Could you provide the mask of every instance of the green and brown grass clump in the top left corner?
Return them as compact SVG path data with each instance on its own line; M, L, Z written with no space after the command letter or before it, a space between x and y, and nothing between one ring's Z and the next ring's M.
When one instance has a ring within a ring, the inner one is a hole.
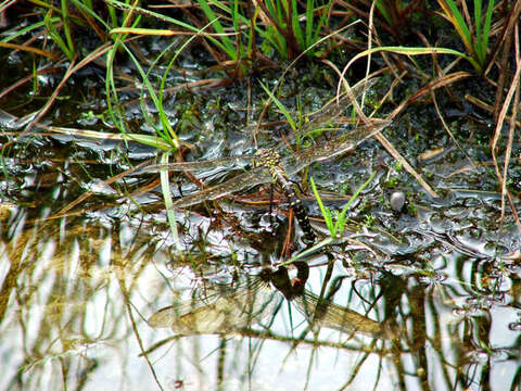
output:
M24 20L27 24L18 23L18 18L23 17L18 14L18 10L29 14ZM109 12L106 13L105 10ZM79 70L89 66L106 52L110 25L105 21L110 18L111 8L94 10L89 0L61 0L58 4L55 1L3 2L0 5L0 12L11 15L8 22L12 18L10 29L0 39L0 47L10 49L8 55L20 53L22 62L31 63L31 71L1 90L0 98L8 97L13 91L20 91L22 87L29 85L30 93L26 94L27 102L38 102L39 100L35 98L40 94L46 100L45 104L31 113L34 119L27 123L21 137L49 113L69 79ZM92 42L97 46L92 50L87 50L87 41L89 48L92 47ZM66 71L63 71L60 63L68 65ZM61 77L52 93L41 88L39 78L46 74Z

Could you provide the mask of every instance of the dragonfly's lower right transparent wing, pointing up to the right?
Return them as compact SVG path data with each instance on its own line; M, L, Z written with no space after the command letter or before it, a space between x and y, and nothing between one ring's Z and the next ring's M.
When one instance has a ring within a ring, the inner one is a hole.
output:
M370 125L359 126L355 130L343 134L320 146L306 148L294 155L284 159L284 168L289 175L294 175L312 163L338 156L342 153L354 150L360 142L374 136L391 123L378 121Z

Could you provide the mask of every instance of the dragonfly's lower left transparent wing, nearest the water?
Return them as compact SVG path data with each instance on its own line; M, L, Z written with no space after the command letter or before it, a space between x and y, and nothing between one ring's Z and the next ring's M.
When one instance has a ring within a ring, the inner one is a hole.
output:
M252 168L251 171L239 174L223 184L206 188L194 194L182 197L174 201L173 207L187 207L204 201L217 200L236 191L265 184L269 180L271 180L271 177L263 167Z

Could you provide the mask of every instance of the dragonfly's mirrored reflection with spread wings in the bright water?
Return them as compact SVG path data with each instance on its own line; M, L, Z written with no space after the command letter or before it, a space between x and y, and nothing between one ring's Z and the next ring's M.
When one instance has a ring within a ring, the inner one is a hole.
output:
M169 327L176 333L229 333L262 323L280 304L281 292L314 326L341 331L363 331L378 335L381 325L346 307L320 300L304 289L309 269L305 263L295 263L297 275L290 279L283 266L263 270L259 276L239 288L219 290L207 288L192 299L160 310L149 319L152 327ZM270 289L270 283L276 290Z

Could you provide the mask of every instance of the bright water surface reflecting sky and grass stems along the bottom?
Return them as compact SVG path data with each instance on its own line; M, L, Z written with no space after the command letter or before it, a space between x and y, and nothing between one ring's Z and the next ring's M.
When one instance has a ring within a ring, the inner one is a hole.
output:
M176 263L142 219L2 216L4 389L519 383L516 260L447 248L382 266L333 256L257 272L229 258Z

